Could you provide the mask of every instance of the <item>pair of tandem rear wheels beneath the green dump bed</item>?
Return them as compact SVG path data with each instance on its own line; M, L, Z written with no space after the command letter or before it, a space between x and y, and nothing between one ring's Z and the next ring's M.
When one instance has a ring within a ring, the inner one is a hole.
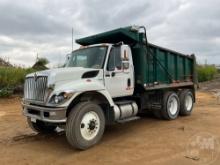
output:
M178 115L190 115L193 110L194 98L191 90L185 89L178 94L168 91L163 96L162 109L154 110L157 118L174 120Z

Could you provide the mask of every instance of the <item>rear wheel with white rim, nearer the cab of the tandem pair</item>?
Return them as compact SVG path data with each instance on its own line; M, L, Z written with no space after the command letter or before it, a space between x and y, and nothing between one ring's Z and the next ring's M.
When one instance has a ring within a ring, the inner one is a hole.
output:
M174 120L180 111L179 97L175 92L166 92L163 97L161 114L166 120Z

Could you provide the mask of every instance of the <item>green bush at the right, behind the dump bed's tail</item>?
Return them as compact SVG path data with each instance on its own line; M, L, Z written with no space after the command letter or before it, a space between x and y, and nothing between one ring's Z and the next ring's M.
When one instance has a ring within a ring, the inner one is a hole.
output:
M198 73L198 81L204 82L214 79L215 75L217 74L217 69L213 65L198 65L197 66L197 73Z

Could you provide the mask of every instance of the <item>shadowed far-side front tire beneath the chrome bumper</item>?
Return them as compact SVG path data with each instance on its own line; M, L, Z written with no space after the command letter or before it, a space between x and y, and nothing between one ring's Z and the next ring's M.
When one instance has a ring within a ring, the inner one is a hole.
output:
M30 118L27 118L27 123L30 126L30 128L38 133L52 133L55 131L56 127L55 125L49 125L47 123L44 123L43 121L36 120L35 122L32 122Z

